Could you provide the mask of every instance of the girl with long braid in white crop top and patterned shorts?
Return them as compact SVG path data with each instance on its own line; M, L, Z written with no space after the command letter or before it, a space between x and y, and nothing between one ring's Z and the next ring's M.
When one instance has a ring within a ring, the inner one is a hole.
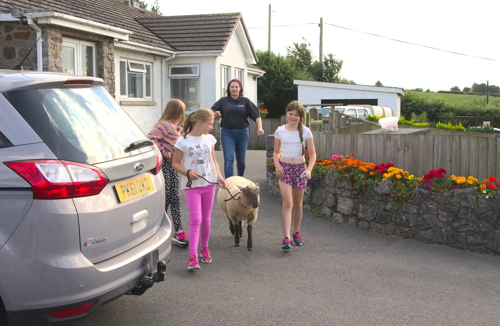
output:
M274 165L283 197L281 224L283 225L284 239L281 242L281 249L284 250L291 249L291 208L293 208L293 244L304 244L299 232L302 220L302 202L307 180L311 178L312 167L316 161L312 132L302 124L304 115L305 107L299 101L291 101L286 106L288 123L279 126L274 131ZM309 150L309 166L305 166L304 141ZM305 176L301 177L300 174L303 171L305 171Z

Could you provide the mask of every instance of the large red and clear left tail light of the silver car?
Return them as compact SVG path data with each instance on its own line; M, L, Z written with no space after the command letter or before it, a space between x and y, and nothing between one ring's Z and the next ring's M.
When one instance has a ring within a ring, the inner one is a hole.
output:
M97 167L62 160L4 162L33 188L33 199L60 199L92 196L109 182Z

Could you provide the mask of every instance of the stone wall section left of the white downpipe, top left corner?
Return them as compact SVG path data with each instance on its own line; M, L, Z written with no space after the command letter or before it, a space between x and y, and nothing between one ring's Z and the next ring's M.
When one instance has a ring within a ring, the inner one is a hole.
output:
M0 69L21 63L36 43L36 31L26 22L0 21ZM36 45L22 64L24 70L36 70Z

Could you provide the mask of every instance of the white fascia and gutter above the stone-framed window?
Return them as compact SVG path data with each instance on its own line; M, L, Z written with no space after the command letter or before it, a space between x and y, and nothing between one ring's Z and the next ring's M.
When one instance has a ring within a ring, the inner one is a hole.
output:
M37 23L54 24L66 28L87 31L118 40L128 40L128 35L133 34L133 31L103 24L97 21L78 18L60 12L36 12L26 13L27 18L36 19Z

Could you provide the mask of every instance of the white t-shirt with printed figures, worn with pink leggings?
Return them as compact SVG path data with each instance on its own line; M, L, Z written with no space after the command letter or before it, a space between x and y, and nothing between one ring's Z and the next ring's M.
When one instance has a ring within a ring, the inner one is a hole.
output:
M201 136L186 135L178 137L175 148L182 150L182 167L186 170L197 172L210 182L217 181L217 172L212 160L212 147L217 140L211 134L202 134ZM187 176L182 175L180 188L186 189ZM198 177L192 181L191 187L204 187L208 185L205 180Z

